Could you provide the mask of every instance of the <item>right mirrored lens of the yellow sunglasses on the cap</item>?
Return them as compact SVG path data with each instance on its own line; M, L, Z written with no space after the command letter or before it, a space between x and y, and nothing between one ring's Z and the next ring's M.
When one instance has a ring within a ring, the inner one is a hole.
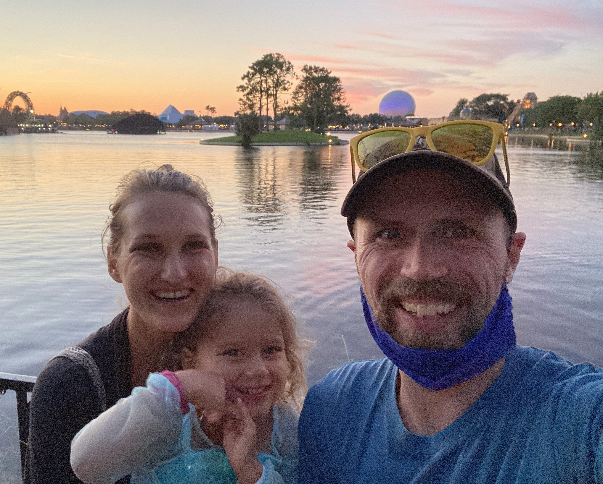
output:
M435 149L471 163L479 163L487 157L493 137L487 126L469 124L443 126L431 133Z

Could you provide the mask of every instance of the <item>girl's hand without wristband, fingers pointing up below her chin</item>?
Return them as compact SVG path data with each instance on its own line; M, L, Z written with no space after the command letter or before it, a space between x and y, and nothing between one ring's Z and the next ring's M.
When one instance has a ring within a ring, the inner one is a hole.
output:
M262 477L263 468L256 452L256 424L239 398L235 405L229 405L223 445L238 484L253 484Z

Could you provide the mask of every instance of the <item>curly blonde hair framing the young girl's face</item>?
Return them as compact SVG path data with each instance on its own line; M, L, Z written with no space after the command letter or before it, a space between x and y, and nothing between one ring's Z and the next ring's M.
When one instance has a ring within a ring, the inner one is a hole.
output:
M203 338L203 332L209 323L224 317L232 307L230 302L233 299L249 300L250 298L259 303L268 314L273 315L282 329L289 374L285 391L279 402L290 403L300 410L308 391L303 361L309 342L297 337L297 322L294 315L289 311L275 285L261 276L219 267L215 285L207 295L206 302L191 326L175 335L164 364L166 367L172 367L174 371L188 366L191 358L194 358L197 353L198 342Z

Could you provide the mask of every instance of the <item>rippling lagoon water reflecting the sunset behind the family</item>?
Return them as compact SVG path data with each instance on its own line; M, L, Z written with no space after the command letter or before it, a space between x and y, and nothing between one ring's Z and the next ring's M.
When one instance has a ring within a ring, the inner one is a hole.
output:
M308 379L379 358L339 207L348 146L201 146L223 134L0 137L0 371L36 375L124 307L100 234L116 182L144 164L200 175L223 265L273 279L314 340ZM342 138L350 138L344 134ZM603 366L603 160L586 143L516 137L511 190L528 240L510 293L519 343ZM19 481L14 393L0 396L0 481Z

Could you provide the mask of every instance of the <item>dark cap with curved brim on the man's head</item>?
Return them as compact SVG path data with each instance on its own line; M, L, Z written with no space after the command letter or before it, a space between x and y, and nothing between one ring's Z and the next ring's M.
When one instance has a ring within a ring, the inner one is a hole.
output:
M517 229L517 214L511 191L502 174L496 155L482 166L440 151L417 149L394 155L361 173L341 205L341 215L347 217L347 227L353 237L356 217L366 200L374 196L374 188L382 181L411 170L444 170L459 179L470 179L472 186L482 189L482 196L493 200L507 217L513 232Z

